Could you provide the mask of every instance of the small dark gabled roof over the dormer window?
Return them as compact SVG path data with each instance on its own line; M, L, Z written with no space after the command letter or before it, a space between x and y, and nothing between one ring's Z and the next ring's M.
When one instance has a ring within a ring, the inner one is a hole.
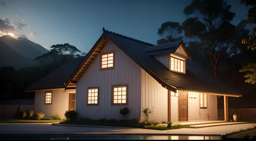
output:
M145 52L148 52L149 55L160 55L165 53L174 53L179 47L182 47L189 59L191 60L192 57L189 54L189 51L185 48L185 45L182 40L171 42L171 43L165 43L165 44L159 44L159 45L153 45L148 46L145 49Z

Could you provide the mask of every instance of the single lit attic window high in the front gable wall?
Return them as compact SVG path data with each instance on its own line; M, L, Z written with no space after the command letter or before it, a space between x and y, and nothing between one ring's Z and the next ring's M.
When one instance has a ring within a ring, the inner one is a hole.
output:
M104 52L101 55L100 71L115 68L115 51Z

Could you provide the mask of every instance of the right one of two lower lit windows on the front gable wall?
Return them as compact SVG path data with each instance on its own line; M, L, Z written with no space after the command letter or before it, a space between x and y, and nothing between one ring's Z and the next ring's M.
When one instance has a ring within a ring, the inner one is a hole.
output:
M127 85L112 86L113 90L113 105L127 104Z

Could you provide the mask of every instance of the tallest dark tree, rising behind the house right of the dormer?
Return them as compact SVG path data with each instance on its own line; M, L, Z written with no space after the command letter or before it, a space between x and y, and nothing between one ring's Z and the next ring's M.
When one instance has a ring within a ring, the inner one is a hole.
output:
M230 9L231 5L224 0L193 0L183 10L186 16L197 16L187 18L182 28L186 37L196 39L208 49L215 77L221 49L229 48L232 44L235 26L230 21L235 13Z

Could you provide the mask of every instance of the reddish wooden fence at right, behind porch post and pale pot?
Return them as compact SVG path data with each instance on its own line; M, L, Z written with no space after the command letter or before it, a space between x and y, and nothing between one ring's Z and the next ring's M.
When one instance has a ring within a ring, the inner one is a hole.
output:
M233 119L234 114L238 115L238 119L256 119L256 108L229 109L231 119ZM218 116L224 116L224 109L218 109Z

